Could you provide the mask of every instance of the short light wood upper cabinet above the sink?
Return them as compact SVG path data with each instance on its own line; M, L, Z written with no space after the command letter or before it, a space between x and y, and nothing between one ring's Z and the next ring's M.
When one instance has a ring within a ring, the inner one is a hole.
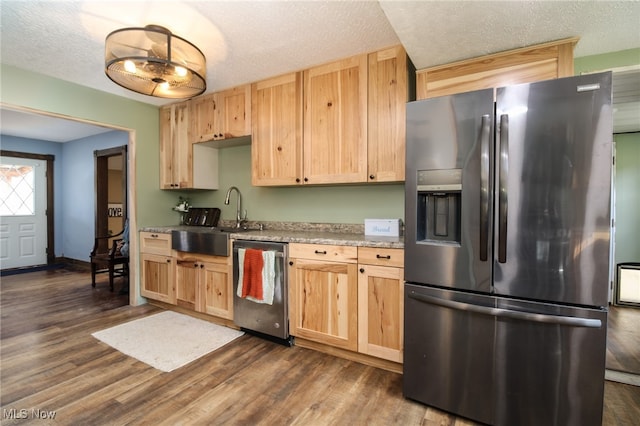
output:
M192 99L191 141L208 142L251 134L251 85Z

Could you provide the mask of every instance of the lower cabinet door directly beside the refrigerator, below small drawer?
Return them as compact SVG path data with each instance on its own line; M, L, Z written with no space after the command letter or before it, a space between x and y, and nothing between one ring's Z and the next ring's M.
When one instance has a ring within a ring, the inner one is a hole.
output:
M358 351L402 362L403 269L360 265L358 275Z

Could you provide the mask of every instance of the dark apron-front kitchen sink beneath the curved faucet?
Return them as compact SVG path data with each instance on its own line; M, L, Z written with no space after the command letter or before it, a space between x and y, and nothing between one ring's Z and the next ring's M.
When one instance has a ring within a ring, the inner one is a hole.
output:
M171 248L189 253L229 256L229 236L245 232L242 228L194 227L193 230L171 231Z

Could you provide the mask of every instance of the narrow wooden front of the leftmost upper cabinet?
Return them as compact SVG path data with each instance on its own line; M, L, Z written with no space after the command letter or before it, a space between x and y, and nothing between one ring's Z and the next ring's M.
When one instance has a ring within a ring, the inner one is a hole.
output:
M189 104L160 109L160 188L191 188L193 155L190 143Z

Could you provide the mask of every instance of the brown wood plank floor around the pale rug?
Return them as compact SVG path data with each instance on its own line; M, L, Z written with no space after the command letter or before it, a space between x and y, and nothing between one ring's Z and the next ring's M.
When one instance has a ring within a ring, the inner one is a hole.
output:
M406 400L399 374L250 335L160 372L91 336L160 308L128 306L104 279L92 289L86 272L0 289L2 425L474 424ZM607 382L604 411L607 426L638 424L640 388Z

